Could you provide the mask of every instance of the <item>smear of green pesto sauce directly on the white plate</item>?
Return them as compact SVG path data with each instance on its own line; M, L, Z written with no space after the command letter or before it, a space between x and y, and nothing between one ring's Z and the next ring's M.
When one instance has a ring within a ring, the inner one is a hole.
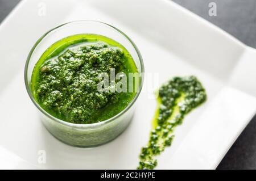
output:
M182 123L187 113L207 100L204 87L194 76L174 77L161 86L158 92L158 108L150 140L141 150L137 169L154 169L157 165L155 157L166 146L171 146L175 127Z

